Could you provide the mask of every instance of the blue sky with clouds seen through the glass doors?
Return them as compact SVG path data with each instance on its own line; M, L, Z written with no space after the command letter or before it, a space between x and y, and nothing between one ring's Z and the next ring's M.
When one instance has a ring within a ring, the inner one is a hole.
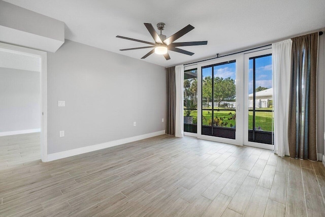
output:
M255 59L255 88L258 86L272 88L272 56ZM212 68L202 69L202 78L212 75ZM236 63L224 64L214 67L214 76L232 78L236 81ZM253 92L253 60L249 60L248 94Z

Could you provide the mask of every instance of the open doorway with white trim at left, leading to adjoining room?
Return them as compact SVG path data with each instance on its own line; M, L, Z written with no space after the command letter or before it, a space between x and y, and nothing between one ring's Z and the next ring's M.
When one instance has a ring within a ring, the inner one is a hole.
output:
M47 161L46 52L0 43L0 169Z

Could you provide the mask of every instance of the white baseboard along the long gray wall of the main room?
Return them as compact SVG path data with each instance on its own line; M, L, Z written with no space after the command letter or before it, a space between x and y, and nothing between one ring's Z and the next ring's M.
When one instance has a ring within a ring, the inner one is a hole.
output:
M47 161L54 161L54 160L58 160L58 159L62 159L62 158L68 158L68 157L76 156L78 154L87 153L90 151L96 151L96 150L100 150L103 148L109 148L109 147L113 147L116 145L121 145L121 144L125 144L128 142L134 142L134 141L138 141L141 139L146 139L146 138L164 135L164 134L165 134L165 130L148 133L148 134L144 134L144 135L140 135L140 136L129 137L129 138L125 138L125 139L119 139L119 140L115 140L115 141L111 141L111 142L105 142L105 143L96 144L96 145L90 145L90 146L86 146L86 147L82 147L82 148L76 148L76 149L61 151L61 152L57 152L57 153L51 153L51 154L47 155Z

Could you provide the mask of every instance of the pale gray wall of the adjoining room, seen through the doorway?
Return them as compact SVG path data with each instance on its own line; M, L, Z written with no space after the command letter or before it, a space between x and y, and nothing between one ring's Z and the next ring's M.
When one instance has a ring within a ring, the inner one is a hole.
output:
M0 68L0 132L41 128L40 73Z

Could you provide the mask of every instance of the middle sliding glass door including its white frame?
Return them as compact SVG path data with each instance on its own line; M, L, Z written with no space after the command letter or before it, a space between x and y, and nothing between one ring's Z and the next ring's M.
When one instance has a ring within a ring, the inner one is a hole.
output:
M198 138L243 143L243 56L198 64Z

